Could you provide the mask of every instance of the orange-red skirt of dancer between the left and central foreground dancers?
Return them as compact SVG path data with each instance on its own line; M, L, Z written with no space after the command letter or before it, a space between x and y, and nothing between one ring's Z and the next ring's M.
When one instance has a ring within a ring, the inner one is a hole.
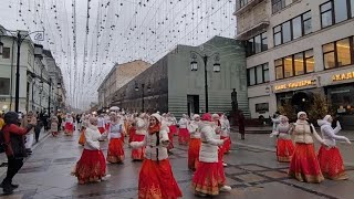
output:
M124 160L124 148L121 138L111 138L107 151L107 161L122 163Z

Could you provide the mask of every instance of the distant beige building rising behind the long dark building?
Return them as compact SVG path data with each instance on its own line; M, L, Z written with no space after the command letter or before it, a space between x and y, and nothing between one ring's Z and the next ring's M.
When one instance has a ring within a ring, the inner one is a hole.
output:
M110 107L114 100L115 92L149 66L149 63L142 60L116 64L97 90L98 107Z

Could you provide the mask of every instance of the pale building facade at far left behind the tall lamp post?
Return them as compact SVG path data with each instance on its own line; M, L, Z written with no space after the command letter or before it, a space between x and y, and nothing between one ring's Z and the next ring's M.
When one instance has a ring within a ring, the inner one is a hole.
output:
M28 32L22 31L21 34ZM15 36L0 25L0 41L3 44L3 52L0 54L0 108L4 112L14 111L18 51L15 40ZM44 52L46 54L43 53L43 46L34 44L30 38L23 40L21 44L19 111L22 113L48 112L48 108L50 112L55 112L59 100L63 102L65 98L64 88L58 88L59 84L63 85L61 71L50 51L44 50ZM50 70L53 67L55 75L51 76L53 71ZM63 104L61 105L63 107Z

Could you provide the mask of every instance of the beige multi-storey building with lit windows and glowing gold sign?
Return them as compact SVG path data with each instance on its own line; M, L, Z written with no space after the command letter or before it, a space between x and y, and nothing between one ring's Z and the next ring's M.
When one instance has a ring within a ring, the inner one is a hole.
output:
M301 109L324 94L354 119L354 0L237 0L237 39L247 44L251 117L285 100Z

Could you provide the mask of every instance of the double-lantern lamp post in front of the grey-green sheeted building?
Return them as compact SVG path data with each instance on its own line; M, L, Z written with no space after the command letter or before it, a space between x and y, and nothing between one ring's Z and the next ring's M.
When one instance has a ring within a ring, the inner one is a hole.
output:
M219 57L219 53L214 53L211 55L201 55L198 52L191 51L190 52L190 56L191 56L191 62L190 62L190 70L191 71L198 71L198 62L197 62L197 57L200 56L200 59L204 62L204 78L205 78L205 97L206 97L206 113L209 112L209 102L208 102L208 71L207 71L207 66L208 66L208 61L210 60L210 57L215 56L215 63L214 63L214 72L219 73L220 72L220 57Z

